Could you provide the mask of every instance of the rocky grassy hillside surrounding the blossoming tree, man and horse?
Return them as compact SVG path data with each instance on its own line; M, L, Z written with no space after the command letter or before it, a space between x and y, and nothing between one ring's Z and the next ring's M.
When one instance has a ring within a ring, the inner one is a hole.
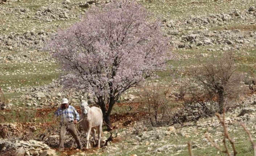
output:
M76 105L80 96L87 96L75 89L63 89L59 78L62 71L57 68L58 63L48 52L42 51L41 47L58 29L66 28L78 21L85 14L86 9L110 2L109 0L0 0L0 19L3 19L0 20L0 85L8 99L7 109L17 107L19 110L55 109L63 97L69 98L72 104ZM238 62L239 65L246 68L255 67L254 1L138 2L154 12L162 21L162 30L170 37L173 46L172 65L182 64L177 67L177 70L181 71L180 75L184 74L185 68L197 66L195 59L218 56L230 50L239 54L242 60ZM181 81L177 81L173 84L170 97L176 98L174 95L181 85L179 83ZM166 80L157 80L155 83L163 84ZM140 98L138 93L140 88L128 90L120 100L133 101ZM235 103L237 108L227 113L226 123L229 132L240 151L243 147L247 152L251 151L250 143L245 141L248 136L239 126L239 122L246 123L247 128L253 135L255 134L256 128L253 124L256 115L255 101L256 96L253 94ZM93 98L91 102L94 102ZM1 127L6 127L14 133L18 132L17 125L20 124L1 123ZM31 131L40 128L36 123L33 124L23 128ZM103 140L110 136L108 132L105 134ZM218 119L212 117L195 123L185 123L184 127L175 125L150 128L145 126L143 121L132 122L127 127L115 130L114 134L117 137L102 149L94 149L93 152L74 150L72 154L182 156L188 155L187 142L191 141L196 155L204 155L202 151L210 151L209 153L218 155L219 153L211 148L205 134L211 136L214 142L222 144L223 130ZM51 130L50 136L46 138L48 141L45 142L1 139L1 152L14 150L21 155L56 155L58 149L55 148L56 150L53 151L49 148L57 144L57 137L57 131Z

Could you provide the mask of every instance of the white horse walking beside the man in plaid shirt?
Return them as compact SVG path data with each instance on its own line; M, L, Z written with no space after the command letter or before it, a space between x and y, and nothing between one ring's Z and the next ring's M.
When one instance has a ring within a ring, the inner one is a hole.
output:
M93 133L94 143L96 143L95 133L98 133L98 147L100 147L100 139L102 134L102 110L98 107L89 107L86 100L80 99L80 107L82 111L82 121L81 125L83 131L86 133L86 149L91 148L90 145L90 134Z

